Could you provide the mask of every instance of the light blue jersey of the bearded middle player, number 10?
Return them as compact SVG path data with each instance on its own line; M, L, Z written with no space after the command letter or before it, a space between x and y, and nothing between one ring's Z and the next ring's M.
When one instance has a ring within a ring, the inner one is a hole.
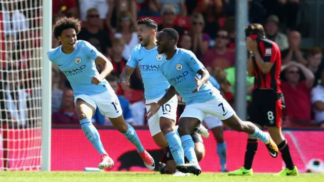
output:
M135 68L139 65L144 84L144 95L146 100L156 99L166 94L170 87L167 78L160 71L160 64L166 59L163 55L157 53L157 47L147 50L136 45L132 50L130 58L126 65Z

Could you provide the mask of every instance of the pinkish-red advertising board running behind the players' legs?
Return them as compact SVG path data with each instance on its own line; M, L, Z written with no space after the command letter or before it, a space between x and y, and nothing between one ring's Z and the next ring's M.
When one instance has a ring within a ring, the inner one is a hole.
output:
M37 166L40 163L39 147L41 138L30 139L33 135L28 130L12 130L9 132L9 165L10 168L21 165ZM136 153L135 147L115 129L99 129L101 141L115 166L111 169L147 171L142 160ZM158 164L163 149L158 148L147 129L137 129L142 144L151 153ZM290 145L291 154L295 165L301 170L306 170L306 165L312 159L324 161L324 131L284 131ZM29 138L28 138L29 137ZM227 168L234 170L244 163L247 134L236 131L224 131L227 143ZM211 134L210 138L204 139L206 156L200 161L203 171L219 171L219 158L216 154L216 141ZM100 162L100 156L87 141L81 129L52 129L52 163L51 168L55 171L80 171L85 167L96 167ZM1 150L0 150L0 153ZM281 156L273 159L267 152L266 147L259 143L259 148L253 163L255 172L277 172L283 167Z

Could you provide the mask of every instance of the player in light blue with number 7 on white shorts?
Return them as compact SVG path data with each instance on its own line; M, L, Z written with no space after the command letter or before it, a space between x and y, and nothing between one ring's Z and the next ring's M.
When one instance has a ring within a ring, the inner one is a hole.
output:
M238 118L232 107L220 95L219 90L208 82L210 75L204 65L191 51L176 47L178 38L178 32L173 28L165 28L157 35L157 51L159 54L166 55L166 61L160 65L160 70L171 86L159 101L147 104L151 107L146 113L147 118L150 118L176 93L184 99L186 107L180 116L178 128L180 139L176 134L173 136L175 144L173 151L179 154L183 154L184 151L189 163L185 164L184 160L176 161L176 168L183 173L195 175L201 173L190 133L207 114L217 117L236 131L244 131L256 136L266 144L270 155L277 157L278 148L270 135L253 123Z

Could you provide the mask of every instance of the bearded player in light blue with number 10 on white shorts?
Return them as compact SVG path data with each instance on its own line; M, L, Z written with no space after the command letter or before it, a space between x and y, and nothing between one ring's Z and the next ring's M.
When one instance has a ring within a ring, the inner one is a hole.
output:
M140 44L136 45L132 50L124 71L120 74L119 82L124 90L129 89L130 76L138 65L144 83L146 103L157 102L170 87L167 78L160 71L160 65L166 60L165 57L156 50L157 24L148 18L139 20L137 23L137 36ZM177 106L177 96L173 96L160 107L158 113L148 119L148 126L152 138L159 147L164 148L169 145L169 147L172 148L176 145L173 138L174 134L176 134L174 126L177 119ZM146 110L149 110L149 106L146 107ZM196 132L205 137L209 136L207 129L202 125L198 126ZM177 151L175 151L172 155L176 161L184 160L183 151L182 154L177 154ZM175 176L180 175L185 174L179 172L175 174Z

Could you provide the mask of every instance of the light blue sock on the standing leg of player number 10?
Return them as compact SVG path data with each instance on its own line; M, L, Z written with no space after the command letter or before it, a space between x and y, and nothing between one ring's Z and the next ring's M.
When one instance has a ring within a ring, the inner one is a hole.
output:
M180 137L175 131L171 131L165 135L165 138L169 143L170 151L176 164L184 164L184 152L181 147Z

